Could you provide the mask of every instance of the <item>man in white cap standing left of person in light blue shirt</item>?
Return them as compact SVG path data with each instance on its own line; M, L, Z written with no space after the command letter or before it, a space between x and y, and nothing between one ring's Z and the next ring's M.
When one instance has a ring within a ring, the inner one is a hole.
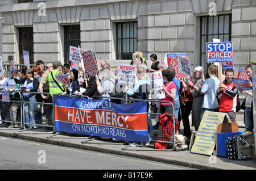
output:
M201 84L203 71L204 69L201 66L197 66L195 70L193 70L193 78L195 79L195 82L188 81L188 86L193 89L192 124L195 126L196 131L200 125L200 116L204 102L204 95L201 94L201 89L203 87Z

